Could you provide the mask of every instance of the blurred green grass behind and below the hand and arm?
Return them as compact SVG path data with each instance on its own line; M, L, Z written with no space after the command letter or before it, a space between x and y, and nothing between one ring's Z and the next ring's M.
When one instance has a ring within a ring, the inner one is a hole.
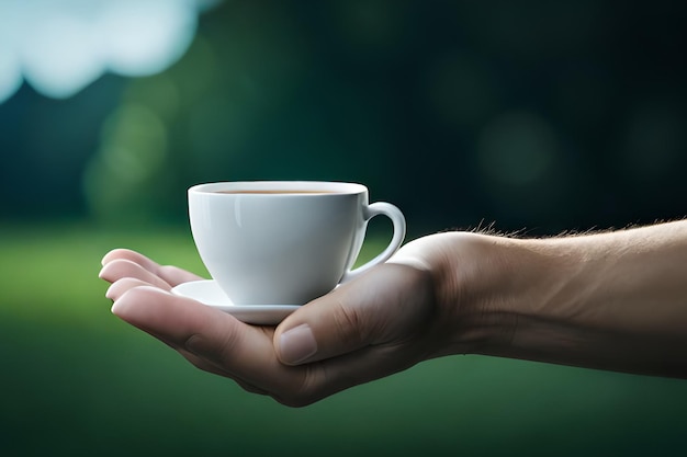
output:
M687 381L489 357L282 407L112 316L98 272L116 247L203 271L183 228L0 228L1 456L687 452Z

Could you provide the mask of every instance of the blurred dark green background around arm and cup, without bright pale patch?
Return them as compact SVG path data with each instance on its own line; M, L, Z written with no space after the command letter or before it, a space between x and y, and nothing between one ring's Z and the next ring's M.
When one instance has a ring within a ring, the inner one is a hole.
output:
M185 188L216 180L362 182L409 238L682 218L686 19L234 0L160 73L22 85L0 104L0 455L685 455L687 382L528 362L447 357L288 409L119 321L97 275L116 247L202 273Z

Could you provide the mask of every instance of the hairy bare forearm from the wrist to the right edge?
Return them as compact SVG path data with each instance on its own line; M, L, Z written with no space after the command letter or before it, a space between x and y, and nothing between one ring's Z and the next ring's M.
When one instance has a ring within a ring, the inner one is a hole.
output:
M451 351L687 377L687 222L476 237L482 266L455 249L447 270Z

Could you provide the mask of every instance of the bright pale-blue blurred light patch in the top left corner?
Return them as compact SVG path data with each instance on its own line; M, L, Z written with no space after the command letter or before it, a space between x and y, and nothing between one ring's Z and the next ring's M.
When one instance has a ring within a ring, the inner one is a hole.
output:
M177 61L207 0L5 0L0 3L0 103L18 69L38 92L68 98L111 71L148 76Z

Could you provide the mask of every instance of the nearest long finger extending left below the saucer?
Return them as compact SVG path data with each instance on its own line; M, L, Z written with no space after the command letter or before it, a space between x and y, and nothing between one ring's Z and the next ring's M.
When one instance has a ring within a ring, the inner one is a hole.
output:
M149 286L128 289L112 312L182 354L193 354L191 362L203 369L221 369L223 376L264 391L289 391L302 385L303 373L277 358L272 329L247 325L217 309Z

